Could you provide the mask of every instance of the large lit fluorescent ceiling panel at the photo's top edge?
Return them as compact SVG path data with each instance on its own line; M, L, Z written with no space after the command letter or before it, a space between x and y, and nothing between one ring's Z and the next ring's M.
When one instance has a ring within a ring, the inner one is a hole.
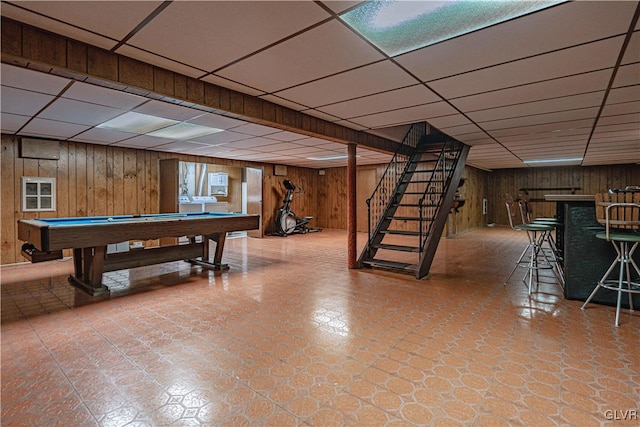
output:
M364 2L340 18L396 56L559 3L564 0L381 0Z

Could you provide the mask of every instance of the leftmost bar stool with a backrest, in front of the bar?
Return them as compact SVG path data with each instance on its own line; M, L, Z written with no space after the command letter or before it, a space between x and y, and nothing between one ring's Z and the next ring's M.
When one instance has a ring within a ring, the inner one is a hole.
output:
M515 273L515 271L518 269L519 266L525 265L527 268L527 273L525 274L522 280L525 281L526 283L526 279L528 277L529 279L528 289L529 289L529 295L531 295L531 293L533 292L533 275L534 274L536 275L535 281L536 281L536 288L537 288L538 270L553 268L548 256L545 254L544 251L541 251L541 246L540 246L540 244L542 243L541 235L543 233L548 233L552 231L553 227L546 224L532 224L532 223L515 225L513 222L513 218L516 217L515 203L513 201L513 198L508 194L506 195L505 205L507 207L509 225L511 225L511 228L513 228L514 230L526 231L529 243L522 251L520 258L518 258L518 261L516 262L516 265L513 267L513 270L511 270L511 273L509 273L509 275L505 279L504 284L506 285L509 282L509 280L511 279L511 276L513 276L513 273ZM525 256L527 255L527 253L529 255L529 258L525 259ZM541 265L539 258L544 259L546 266Z

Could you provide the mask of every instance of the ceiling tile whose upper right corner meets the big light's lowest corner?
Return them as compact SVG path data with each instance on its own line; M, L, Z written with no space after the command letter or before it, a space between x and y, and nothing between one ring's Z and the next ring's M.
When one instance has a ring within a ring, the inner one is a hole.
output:
M415 83L416 79L397 65L382 61L276 92L276 95L315 108Z

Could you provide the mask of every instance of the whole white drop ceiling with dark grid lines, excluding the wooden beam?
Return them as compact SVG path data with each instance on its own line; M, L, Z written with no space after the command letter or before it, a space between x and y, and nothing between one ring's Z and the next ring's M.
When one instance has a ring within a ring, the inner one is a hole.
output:
M3 1L2 16L398 140L427 121L468 163L640 162L637 1L566 2L390 57L340 16L357 1ZM2 132L312 168L336 142L94 82L2 64ZM101 129L127 111L224 132L167 140ZM358 147L358 163L386 153ZM562 164L562 163L558 163Z

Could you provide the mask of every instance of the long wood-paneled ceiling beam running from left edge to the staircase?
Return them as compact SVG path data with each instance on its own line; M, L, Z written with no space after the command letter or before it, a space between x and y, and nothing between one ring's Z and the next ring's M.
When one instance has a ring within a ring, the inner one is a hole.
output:
M282 130L395 152L398 143L2 17L2 62ZM150 94L149 92L153 92ZM155 95L154 95L155 94Z

